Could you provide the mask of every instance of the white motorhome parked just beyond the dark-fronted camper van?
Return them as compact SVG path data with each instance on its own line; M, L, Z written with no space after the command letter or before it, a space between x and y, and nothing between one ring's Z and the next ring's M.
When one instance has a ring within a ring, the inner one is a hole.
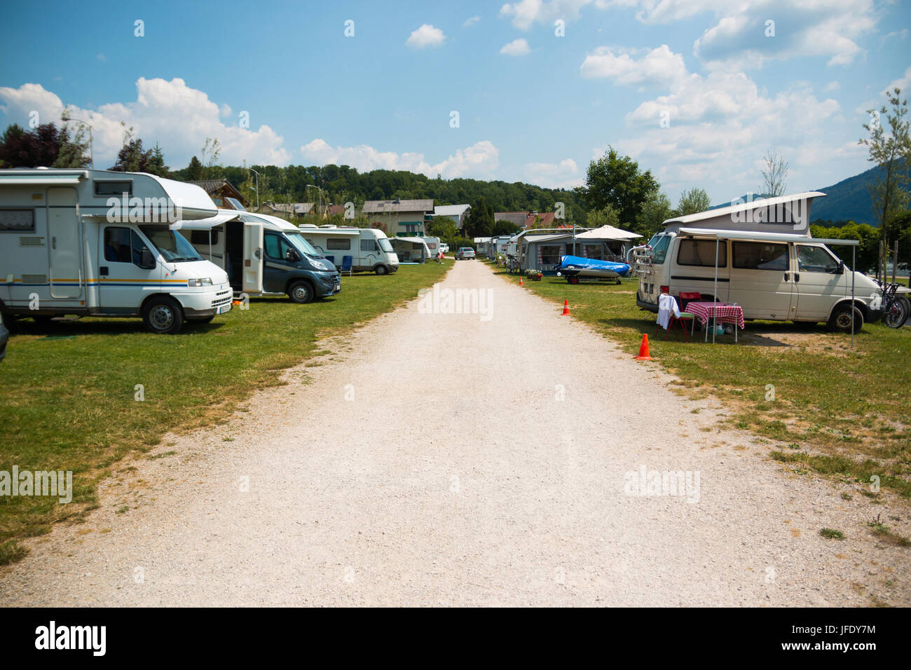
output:
M398 256L386 233L376 228L317 228L312 223L301 226L304 239L316 251L328 258L335 267L342 267L345 256L352 257L355 273L394 273L398 270Z

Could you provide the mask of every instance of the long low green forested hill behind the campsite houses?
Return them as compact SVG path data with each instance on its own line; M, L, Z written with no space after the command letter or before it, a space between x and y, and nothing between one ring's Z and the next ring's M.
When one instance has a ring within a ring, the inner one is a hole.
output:
M201 166L197 170L201 170ZM564 202L577 221L585 221L585 207L573 191L543 189L539 186L516 181L484 181L474 179L432 179L423 174L406 170L370 170L358 172L347 165L311 166L292 165L285 168L254 166L260 173L260 201L312 202L319 198L319 191L308 185L322 187L322 201L335 204L352 201L360 205L365 200L433 198L436 205L474 204L484 198L494 211L554 211L554 203ZM215 167L205 169L208 179L227 179L244 197L255 199L254 176L241 167ZM180 180L199 180L202 174L193 174L188 166L172 173Z

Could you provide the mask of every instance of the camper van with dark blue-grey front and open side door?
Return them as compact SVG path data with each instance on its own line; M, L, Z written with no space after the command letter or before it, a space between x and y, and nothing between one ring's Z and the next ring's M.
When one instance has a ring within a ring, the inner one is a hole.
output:
M219 210L210 219L173 227L203 258L228 273L235 294L287 294L303 304L342 291L335 266L303 239L297 226L278 217Z

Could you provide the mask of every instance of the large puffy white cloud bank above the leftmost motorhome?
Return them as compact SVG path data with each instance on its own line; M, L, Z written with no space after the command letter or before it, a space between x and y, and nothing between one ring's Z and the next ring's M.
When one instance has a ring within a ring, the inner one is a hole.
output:
M95 109L69 106L73 117L92 124L93 149L99 168L114 164L123 145L120 122L133 127L144 147L161 145L168 165L186 165L190 156L199 153L206 138L217 138L221 144L220 159L226 164L248 163L286 165L290 154L282 149L283 139L269 126L242 129L236 120L226 125L220 113L230 108L212 102L204 92L189 88L183 79L146 79L136 82L137 99L128 103L109 103ZM19 88L0 88L0 110L9 122L24 123L36 110L41 123L60 122L63 101L40 84L23 84ZM227 119L226 119L227 120Z

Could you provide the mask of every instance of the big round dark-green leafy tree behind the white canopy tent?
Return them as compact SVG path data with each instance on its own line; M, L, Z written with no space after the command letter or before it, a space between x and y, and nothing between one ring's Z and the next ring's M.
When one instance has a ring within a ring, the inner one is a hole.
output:
M589 163L585 187L577 193L590 209L601 210L610 205L617 211L620 224L627 225L636 221L642 205L658 187L650 170L641 171L638 162L609 147L599 160Z

